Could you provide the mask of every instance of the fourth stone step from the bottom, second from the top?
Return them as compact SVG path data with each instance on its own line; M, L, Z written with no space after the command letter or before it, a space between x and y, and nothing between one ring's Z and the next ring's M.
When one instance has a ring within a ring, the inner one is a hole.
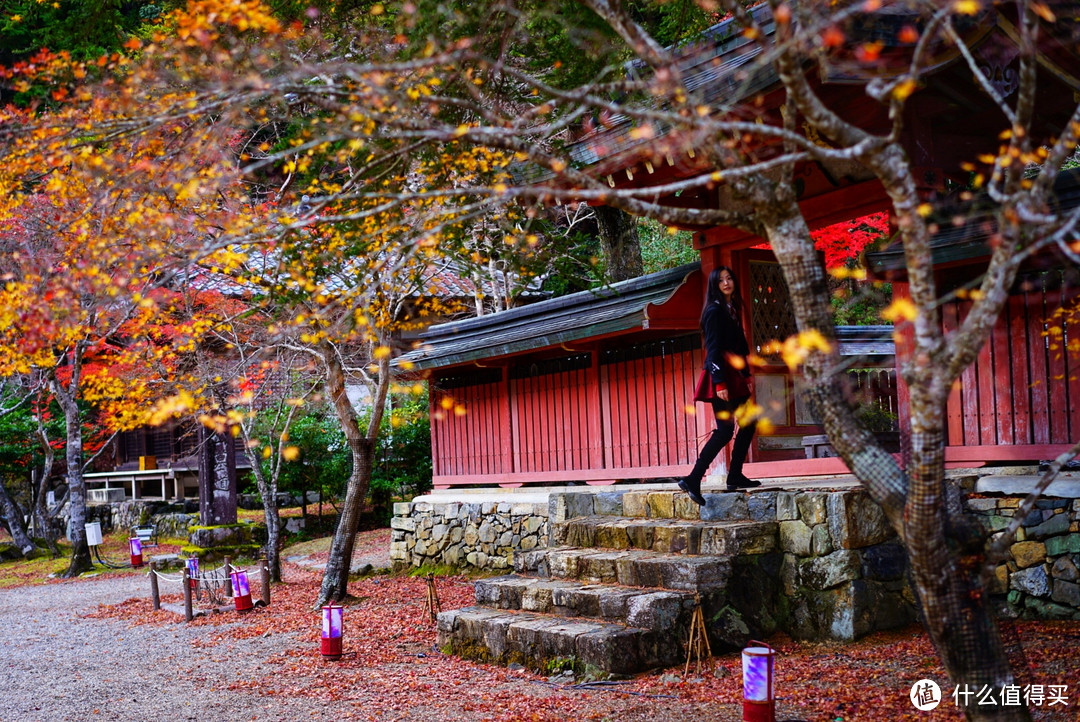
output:
M552 546L651 549L732 557L773 551L775 521L692 521L611 516L573 517L551 526Z

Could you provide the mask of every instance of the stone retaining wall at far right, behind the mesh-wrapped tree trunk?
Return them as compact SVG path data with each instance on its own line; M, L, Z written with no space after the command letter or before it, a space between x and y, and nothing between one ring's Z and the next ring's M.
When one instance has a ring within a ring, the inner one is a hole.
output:
M968 510L998 535L1022 498L973 495ZM1080 619L1080 500L1040 499L1024 517L1010 558L998 566L991 594L1005 595L1017 616Z

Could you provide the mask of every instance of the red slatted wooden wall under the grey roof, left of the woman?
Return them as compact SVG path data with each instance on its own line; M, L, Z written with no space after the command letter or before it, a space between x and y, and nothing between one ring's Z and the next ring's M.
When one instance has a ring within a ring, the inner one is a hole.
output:
M694 336L522 362L432 384L436 486L685 474L712 431Z

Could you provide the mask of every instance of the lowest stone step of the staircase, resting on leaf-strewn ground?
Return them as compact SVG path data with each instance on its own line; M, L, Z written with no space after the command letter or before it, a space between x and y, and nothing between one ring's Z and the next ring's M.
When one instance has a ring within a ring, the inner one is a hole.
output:
M572 659L579 671L618 675L670 667L684 654L681 635L670 630L486 607L440 613L437 642L444 652L494 664L542 670L551 659Z

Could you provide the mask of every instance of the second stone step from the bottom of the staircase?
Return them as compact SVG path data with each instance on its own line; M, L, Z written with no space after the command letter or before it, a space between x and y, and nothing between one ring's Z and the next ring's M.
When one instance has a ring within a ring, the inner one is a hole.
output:
M508 574L478 580L483 607L592 617L661 631L690 623L697 603L691 591L585 584Z

